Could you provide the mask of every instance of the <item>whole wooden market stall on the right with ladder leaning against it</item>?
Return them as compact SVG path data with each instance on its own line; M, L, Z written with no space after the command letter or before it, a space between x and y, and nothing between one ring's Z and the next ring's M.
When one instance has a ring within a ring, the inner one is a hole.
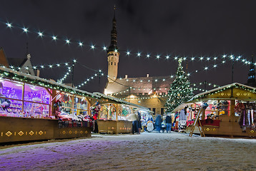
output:
M186 133L256 137L255 102L255 88L240 83L195 95L186 106L189 116ZM197 118L198 123L194 124Z

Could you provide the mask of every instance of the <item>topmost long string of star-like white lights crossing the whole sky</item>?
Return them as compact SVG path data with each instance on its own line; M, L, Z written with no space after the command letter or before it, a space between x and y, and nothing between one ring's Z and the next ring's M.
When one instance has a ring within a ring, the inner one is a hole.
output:
M93 43L87 43L86 41L75 41L75 40L71 40L70 38L67 38L68 36L56 36L56 34L51 34L51 33L46 33L46 31L40 31L39 29L36 30L34 28L28 28L26 26L20 26L19 24L14 24L11 23L9 21L4 21L3 19L0 19L0 23L6 25L7 28L18 28L19 30L21 30L23 33L34 33L36 34L37 37L39 38L51 38L52 41L62 41L63 43L69 45L69 44L74 44L77 45L81 48L84 47L89 47L90 50L101 50L101 51L107 51L107 47L106 46L97 46L96 44ZM78 38L79 39L79 38ZM79 39L81 40L81 39ZM180 56L171 56L169 54L166 55L161 55L163 53L142 53L142 52L132 52L132 51L124 51L124 50L115 50L115 51L119 51L120 53L125 53L126 56L137 56L139 58L144 57L144 58L152 58L152 59L157 59L157 61L159 60L167 60L169 61L170 59L173 59L174 61L177 61L178 58L180 58ZM170 53L172 54L172 53ZM230 56L226 54L222 54L220 56L191 56L191 57L183 57L184 61L217 61L217 60L222 60L222 59L227 59L230 58L230 60L234 60L234 61L240 61L244 64L251 64L252 62L247 60L246 58L242 58L242 56L235 56L233 54L231 54ZM256 65L256 63L253 63L254 65ZM50 66L49 66L50 67Z

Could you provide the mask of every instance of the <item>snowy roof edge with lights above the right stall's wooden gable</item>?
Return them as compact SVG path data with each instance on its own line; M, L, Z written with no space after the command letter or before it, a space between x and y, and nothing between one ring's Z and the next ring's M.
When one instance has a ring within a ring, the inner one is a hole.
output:
M198 100L198 99L203 99L206 95L211 95L213 93L218 93L222 90L226 90L226 89L229 89L229 88L241 88L243 90L249 90L252 93L256 93L256 88L253 88L251 86L246 86L246 85L241 84L241 83L232 83L232 84L228 84L226 86L222 86L222 87L219 87L219 88L208 90L204 93L199 93L199 94L195 95L193 98L191 98L188 101L188 103L191 103L192 101L195 101L195 100Z

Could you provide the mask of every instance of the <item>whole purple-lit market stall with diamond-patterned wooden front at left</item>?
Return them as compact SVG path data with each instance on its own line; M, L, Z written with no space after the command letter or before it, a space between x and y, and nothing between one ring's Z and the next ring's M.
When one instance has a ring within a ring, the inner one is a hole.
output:
M0 67L0 142L91 136L99 96Z

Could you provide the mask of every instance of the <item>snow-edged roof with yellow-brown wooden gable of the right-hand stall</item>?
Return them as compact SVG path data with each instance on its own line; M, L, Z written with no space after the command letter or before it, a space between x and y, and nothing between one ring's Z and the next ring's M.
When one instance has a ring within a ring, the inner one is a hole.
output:
M241 83L232 83L204 93L199 93L191 98L187 103L206 99L256 100L256 88L246 86Z

